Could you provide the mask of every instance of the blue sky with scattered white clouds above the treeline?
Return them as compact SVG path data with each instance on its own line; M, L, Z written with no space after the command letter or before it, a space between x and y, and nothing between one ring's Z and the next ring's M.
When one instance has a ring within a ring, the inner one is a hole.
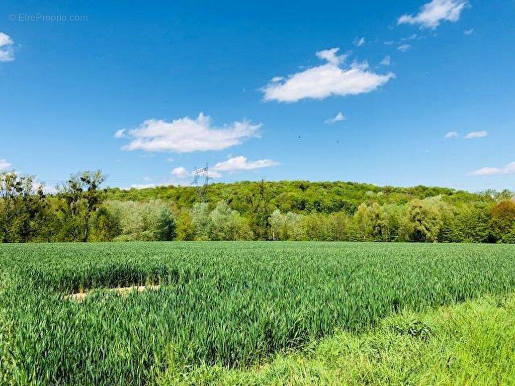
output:
M512 0L55 3L0 4L3 170L515 189Z

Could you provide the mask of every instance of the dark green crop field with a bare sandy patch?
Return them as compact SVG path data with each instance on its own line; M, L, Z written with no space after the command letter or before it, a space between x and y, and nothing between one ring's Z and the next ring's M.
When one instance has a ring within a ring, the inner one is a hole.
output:
M515 291L514 258L500 244L4 244L0 383L250 369L393 313ZM108 290L145 284L161 287ZM65 297L89 290L80 303Z

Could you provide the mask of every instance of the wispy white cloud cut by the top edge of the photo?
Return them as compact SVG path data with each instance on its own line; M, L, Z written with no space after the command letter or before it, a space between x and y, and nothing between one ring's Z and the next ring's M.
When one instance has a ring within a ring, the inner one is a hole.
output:
M468 5L467 0L432 0L420 8L414 15L404 14L397 20L398 24L420 24L420 28L435 29L441 21L457 22L462 10Z

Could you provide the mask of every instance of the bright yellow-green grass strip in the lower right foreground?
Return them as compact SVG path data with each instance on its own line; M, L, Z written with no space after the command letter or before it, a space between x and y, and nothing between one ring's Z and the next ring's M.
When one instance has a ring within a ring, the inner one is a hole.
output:
M369 332L339 332L250 370L169 369L170 385L515 384L515 296L403 312Z

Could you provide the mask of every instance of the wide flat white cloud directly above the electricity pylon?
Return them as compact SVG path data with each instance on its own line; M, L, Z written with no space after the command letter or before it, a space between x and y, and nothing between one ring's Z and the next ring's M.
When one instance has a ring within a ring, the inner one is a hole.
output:
M196 119L184 117L171 122L148 119L139 128L129 130L127 135L132 141L122 149L176 153L222 150L259 137L260 128L261 124L247 120L214 127L211 118L202 113Z

